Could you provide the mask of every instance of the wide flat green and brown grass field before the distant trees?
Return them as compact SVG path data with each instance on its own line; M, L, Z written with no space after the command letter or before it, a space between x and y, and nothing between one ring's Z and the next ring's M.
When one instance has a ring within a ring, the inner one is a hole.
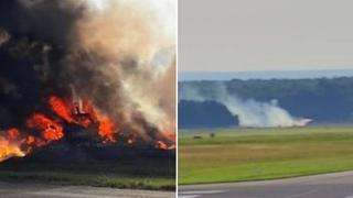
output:
M210 138L215 133L215 138ZM193 139L193 136L201 139ZM353 169L353 128L180 131L179 184L274 179Z

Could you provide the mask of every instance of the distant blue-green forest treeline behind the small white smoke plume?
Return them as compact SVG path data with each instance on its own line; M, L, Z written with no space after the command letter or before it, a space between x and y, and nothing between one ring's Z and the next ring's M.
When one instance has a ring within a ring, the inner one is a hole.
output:
M315 123L335 123L353 121L353 77L315 78L315 79L270 79L270 80L229 80L221 81L227 91L242 99L255 99L257 101L278 100L278 106L286 109L291 116L310 118ZM185 86L196 87L202 95L213 96L220 81L202 80L179 82L179 91ZM212 98L212 97L211 97ZM197 103L197 102L196 102ZM180 127L186 127L194 122L189 112L199 112L200 106L179 106ZM186 107L186 108L185 108ZM197 110L194 110L196 108ZM213 110L206 113L213 114L214 119L225 114ZM210 119L211 121L213 119ZM217 121L218 122L218 121ZM220 125L222 127L222 125Z

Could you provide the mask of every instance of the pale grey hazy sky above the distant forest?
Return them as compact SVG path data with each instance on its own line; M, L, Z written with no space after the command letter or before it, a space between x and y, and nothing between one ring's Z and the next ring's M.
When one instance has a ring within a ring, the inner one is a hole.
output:
M179 0L179 69L353 69L352 0Z

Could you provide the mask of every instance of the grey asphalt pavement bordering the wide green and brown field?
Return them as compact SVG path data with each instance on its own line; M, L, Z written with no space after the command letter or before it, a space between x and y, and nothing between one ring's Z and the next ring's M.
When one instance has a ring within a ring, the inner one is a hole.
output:
M278 180L179 186L179 198L353 198L353 172Z

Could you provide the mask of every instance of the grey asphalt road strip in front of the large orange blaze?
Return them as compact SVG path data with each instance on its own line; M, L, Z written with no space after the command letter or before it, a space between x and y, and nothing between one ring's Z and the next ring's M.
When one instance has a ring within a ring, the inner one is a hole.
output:
M174 198L174 193L0 182L1 198Z

